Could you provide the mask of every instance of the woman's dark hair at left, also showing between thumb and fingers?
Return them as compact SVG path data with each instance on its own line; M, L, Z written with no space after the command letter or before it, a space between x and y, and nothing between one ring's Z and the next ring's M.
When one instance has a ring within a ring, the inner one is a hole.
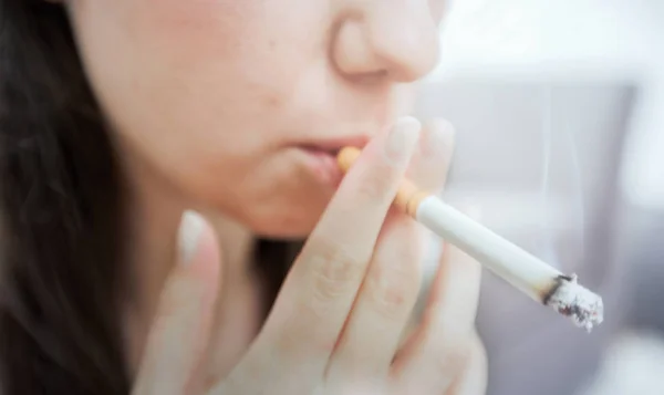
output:
M1 393L127 394L123 177L65 10L0 0L0 51ZM258 251L273 300L291 254Z

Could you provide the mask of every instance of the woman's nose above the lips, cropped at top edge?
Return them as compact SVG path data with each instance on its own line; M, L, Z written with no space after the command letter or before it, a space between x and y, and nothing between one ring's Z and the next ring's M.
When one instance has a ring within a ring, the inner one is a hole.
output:
M338 24L332 60L350 77L412 82L438 60L438 29L428 0L360 0Z

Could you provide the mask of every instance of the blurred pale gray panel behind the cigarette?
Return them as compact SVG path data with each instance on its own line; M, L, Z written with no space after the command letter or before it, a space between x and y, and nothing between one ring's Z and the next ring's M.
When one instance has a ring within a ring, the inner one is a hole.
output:
M443 116L457 129L444 198L481 207L486 226L578 273L606 304L606 322L589 335L487 273L478 328L489 354L490 395L573 394L623 323L626 291L611 285L632 259L624 248L619 253L618 173L636 93L627 83L560 80L422 89L416 115Z

